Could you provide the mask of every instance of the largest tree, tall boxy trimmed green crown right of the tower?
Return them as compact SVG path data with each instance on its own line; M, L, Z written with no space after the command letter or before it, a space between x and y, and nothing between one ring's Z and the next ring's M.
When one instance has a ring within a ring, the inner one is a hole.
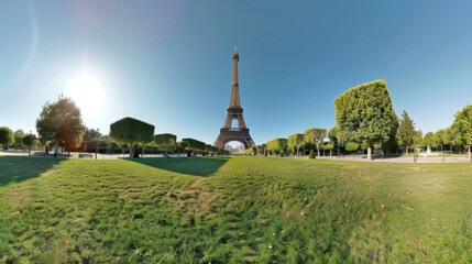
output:
M372 144L387 141L398 128L385 80L347 90L334 99L334 110L340 130L348 130L355 140L367 142L367 161L372 161Z

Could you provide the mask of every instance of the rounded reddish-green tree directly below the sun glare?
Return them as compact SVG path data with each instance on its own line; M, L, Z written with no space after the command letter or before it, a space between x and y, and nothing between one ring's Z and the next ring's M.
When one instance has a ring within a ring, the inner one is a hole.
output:
M43 142L53 141L54 156L61 142L78 144L85 132L80 109L68 97L61 96L54 103L46 102L36 120L36 130Z

